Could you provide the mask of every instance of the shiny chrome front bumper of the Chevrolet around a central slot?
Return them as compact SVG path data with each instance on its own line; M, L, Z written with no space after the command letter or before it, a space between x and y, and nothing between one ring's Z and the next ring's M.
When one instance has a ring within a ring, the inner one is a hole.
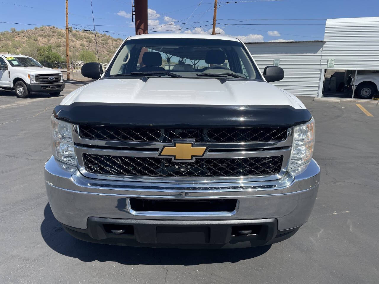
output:
M278 230L304 224L312 211L319 186L320 168L312 161L297 174L286 173L276 181L232 183L152 183L117 181L83 176L76 168L51 157L45 164L47 196L55 218L66 226L86 229L89 217L128 220L255 220L275 218ZM129 198L236 199L235 211L136 212ZM229 222L228 221L228 222Z

